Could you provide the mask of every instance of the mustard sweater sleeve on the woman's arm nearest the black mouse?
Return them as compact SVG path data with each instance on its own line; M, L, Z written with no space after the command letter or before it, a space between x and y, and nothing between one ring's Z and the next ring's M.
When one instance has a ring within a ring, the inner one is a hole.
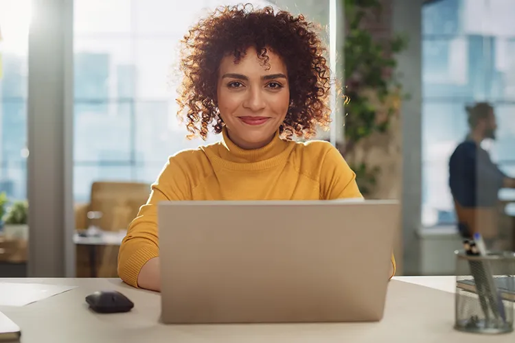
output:
M118 253L118 276L128 285L138 287L141 267L159 256L157 237L157 204L168 200L187 200L190 187L184 171L174 161L168 160L157 181L152 185L150 197L140 207L135 219L127 228Z

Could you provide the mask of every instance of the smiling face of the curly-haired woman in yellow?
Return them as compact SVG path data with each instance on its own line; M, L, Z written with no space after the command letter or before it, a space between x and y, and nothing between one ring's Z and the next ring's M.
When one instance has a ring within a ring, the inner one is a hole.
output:
M217 97L229 138L242 149L268 144L288 112L290 88L286 65L268 50L268 66L254 48L240 62L225 56L220 62Z

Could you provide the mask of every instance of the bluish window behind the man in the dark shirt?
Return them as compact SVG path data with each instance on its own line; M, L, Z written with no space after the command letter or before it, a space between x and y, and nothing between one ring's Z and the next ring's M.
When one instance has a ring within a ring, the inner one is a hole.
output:
M422 224L455 222L448 158L466 136L465 106L494 104L492 159L515 175L515 2L439 0L422 8Z

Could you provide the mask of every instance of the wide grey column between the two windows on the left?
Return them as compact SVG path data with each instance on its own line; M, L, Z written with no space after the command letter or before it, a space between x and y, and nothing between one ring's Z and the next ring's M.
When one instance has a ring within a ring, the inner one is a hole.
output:
M33 0L32 6L27 274L73 276L73 0Z

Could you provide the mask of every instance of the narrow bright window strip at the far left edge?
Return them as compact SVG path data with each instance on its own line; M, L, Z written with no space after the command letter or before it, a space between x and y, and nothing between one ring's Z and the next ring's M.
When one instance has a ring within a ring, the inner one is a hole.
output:
M27 196L27 52L30 0L0 0L0 193Z

